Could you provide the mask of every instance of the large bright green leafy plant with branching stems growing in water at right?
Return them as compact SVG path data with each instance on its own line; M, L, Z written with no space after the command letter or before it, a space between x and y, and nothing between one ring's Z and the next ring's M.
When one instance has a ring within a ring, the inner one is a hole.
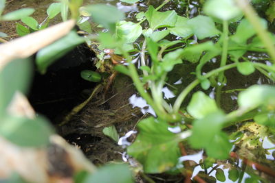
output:
M177 144L186 140L195 149L205 149L206 154L211 158L228 158L234 143L230 143L230 138L223 132L223 128L240 121L248 114L256 123L274 127L272 122L274 121L274 86L252 86L241 92L238 97L239 109L229 114L221 110L219 99L216 102L202 91L192 95L188 106L181 106L186 95L197 84L201 84L204 90L210 86L215 87L217 96L221 95L219 89L221 90L226 83L223 71L233 67L243 75L250 75L257 69L270 80L274 80L274 64L267 66L261 62L251 62L244 56L247 51L267 52L267 50L265 42L256 36L255 27L248 19L243 18L241 9L233 1L206 1L203 12L207 16L199 15L193 19L179 16L175 11L159 12L153 6L149 6L146 12L137 14L139 23L123 21L123 16L119 12L117 12L119 16L113 16L111 21L105 21L102 17L108 16L109 13L99 12L95 7L94 5L87 7L93 21L109 29L109 32L100 32L98 37L100 47L115 49L116 53L121 53L129 61L127 65L119 65L115 69L132 77L140 95L157 114L157 118L149 117L140 121L137 125L139 130L137 139L127 148L128 154L144 165L146 173L161 173L175 168L181 156ZM111 7L108 10L111 10ZM114 13L115 8L109 12ZM256 17L256 19L260 18ZM148 21L149 27L141 26L144 21ZM230 35L228 24L236 21L238 21L236 32ZM266 30L266 21L261 19L260 22L261 29ZM217 25L223 25L223 30ZM168 34L179 36L181 39L165 40ZM141 57L148 51L152 63L151 66L141 63L140 70L143 74L137 75L128 52L136 51L133 42L140 36L144 37L145 42L142 45L145 49L140 50ZM198 43L192 40L191 36L195 36L198 40L208 38L208 41ZM274 35L269 33L268 36L274 42ZM176 47L174 51L173 49L170 51L174 45L180 45L181 48ZM166 50L169 52L164 55ZM202 75L203 65L217 56L221 56L220 68ZM197 80L179 93L174 106L171 107L163 99L162 88L167 73L173 71L173 67L181 64L183 60L197 63L195 71ZM231 64L228 64L229 62ZM212 80L209 80L209 77L212 77ZM151 95L144 91L143 85L146 83L151 90ZM251 98L254 100L252 101ZM186 130L185 125L177 123L184 120L184 117L179 115L179 111L185 109L194 119L191 119L192 130ZM181 130L177 133L170 132L169 127L173 127L170 123L179 125Z

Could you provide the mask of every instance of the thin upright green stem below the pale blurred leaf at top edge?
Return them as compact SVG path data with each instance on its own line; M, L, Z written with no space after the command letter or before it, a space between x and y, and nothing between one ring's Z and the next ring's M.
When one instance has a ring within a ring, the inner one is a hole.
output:
M223 21L223 51L221 53L221 65L225 66L228 60L228 21ZM221 106L221 88L223 88L224 73L219 73L218 86L216 90L217 106Z

